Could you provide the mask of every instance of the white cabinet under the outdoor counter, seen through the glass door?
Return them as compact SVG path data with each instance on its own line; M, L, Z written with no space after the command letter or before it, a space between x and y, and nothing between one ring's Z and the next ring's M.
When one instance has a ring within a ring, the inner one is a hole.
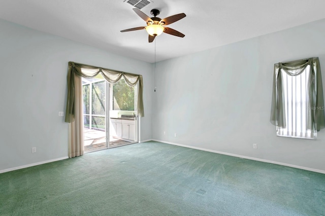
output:
M111 135L116 138L135 141L135 121L124 119L111 119Z

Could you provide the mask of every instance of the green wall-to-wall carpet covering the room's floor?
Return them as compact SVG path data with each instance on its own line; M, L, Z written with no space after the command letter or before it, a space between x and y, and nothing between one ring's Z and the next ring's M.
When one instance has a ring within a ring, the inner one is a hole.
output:
M150 141L2 173L0 215L325 215L325 174Z

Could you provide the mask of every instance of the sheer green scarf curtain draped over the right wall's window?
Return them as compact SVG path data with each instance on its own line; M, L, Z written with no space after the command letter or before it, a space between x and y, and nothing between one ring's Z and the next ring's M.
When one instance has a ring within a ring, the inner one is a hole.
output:
M283 89L282 73L286 73L288 76L298 76L305 71L308 65L310 66L310 74L306 88L309 115L306 127L312 132L325 128L324 97L318 57L274 64L270 118L270 122L273 125L279 128L286 128L285 90Z

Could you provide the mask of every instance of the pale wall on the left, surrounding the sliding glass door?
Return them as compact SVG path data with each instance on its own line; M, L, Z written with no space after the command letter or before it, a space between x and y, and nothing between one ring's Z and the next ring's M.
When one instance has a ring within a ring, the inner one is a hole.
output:
M69 61L143 75L141 139L151 139L151 64L4 20L0 29L0 172L68 156L58 112L66 111Z

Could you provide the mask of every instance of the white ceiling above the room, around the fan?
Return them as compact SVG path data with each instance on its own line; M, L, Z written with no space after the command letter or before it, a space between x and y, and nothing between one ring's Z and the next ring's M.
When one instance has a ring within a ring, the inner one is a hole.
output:
M0 18L98 47L154 62L242 41L325 18L324 0L153 0L141 11L149 17L185 13L168 25L184 38L163 33L148 43L146 26L124 0L0 0ZM1 29L0 29L1 30Z

